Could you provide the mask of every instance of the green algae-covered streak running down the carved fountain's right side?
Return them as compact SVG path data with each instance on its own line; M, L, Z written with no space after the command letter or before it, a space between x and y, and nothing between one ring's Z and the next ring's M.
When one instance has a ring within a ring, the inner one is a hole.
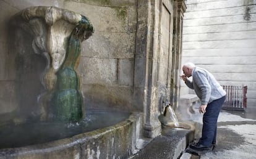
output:
M56 88L49 101L56 120L75 122L83 117L83 97L80 92L80 78L76 70L81 42L89 38L92 32L92 25L86 17L83 17L70 35L66 58L57 72Z

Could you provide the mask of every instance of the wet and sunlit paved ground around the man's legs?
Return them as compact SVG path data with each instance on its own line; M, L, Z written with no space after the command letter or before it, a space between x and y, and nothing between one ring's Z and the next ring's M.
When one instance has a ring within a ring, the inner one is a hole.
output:
M202 114L195 108L189 120L198 123L196 138L200 137ZM256 108L245 112L222 110L218 118L217 146L212 151L202 152L200 157L183 153L181 158L256 158Z

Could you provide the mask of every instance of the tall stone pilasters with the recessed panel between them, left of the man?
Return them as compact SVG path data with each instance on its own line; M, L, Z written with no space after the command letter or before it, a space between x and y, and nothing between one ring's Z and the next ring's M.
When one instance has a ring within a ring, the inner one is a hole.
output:
M158 120L161 99L169 100L171 97L173 100L175 97L177 100L176 76L181 62L181 15L184 8L181 5L183 1L176 1L176 28L173 28L173 2L138 1L134 100L144 108L145 137L155 137L161 132ZM173 32L176 33L175 43Z

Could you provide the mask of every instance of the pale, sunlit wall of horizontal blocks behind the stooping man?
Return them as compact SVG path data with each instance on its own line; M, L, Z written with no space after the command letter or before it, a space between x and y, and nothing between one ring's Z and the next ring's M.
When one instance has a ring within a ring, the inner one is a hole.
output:
M187 0L186 5L182 63L206 68L223 85L247 85L247 107L255 107L256 2Z

